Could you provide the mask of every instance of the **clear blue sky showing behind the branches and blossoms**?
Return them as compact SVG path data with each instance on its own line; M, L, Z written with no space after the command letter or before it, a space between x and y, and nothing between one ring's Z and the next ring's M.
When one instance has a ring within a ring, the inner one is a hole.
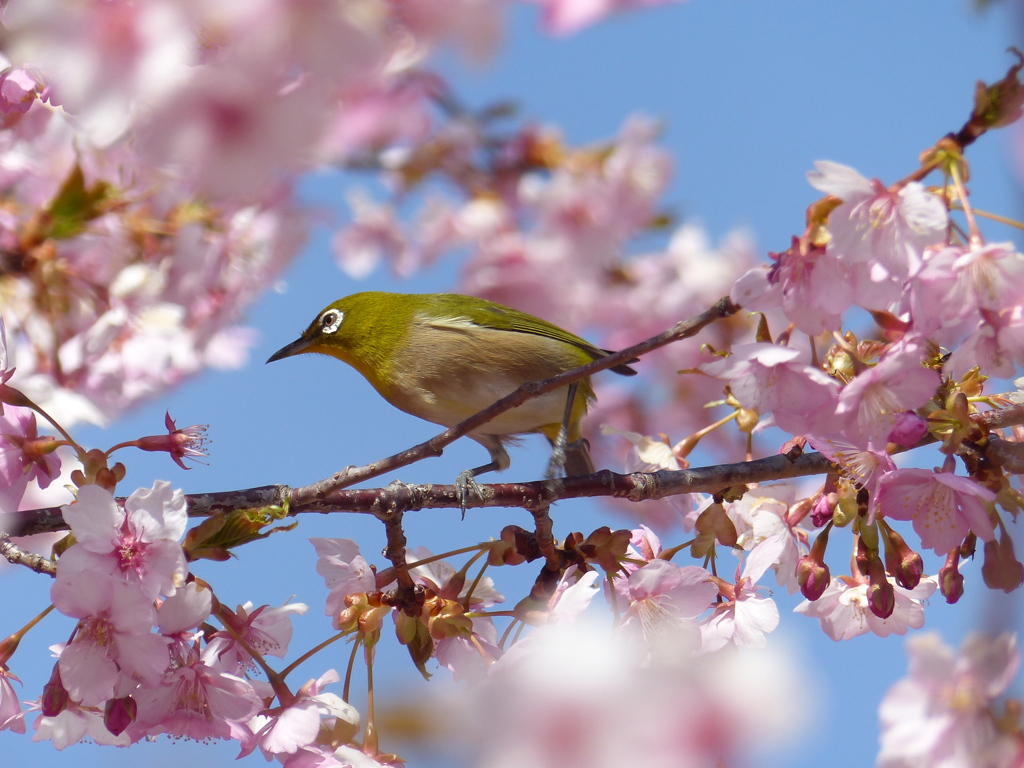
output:
M456 57L444 72L471 106L511 98L538 122L561 126L572 142L615 133L633 114L665 124L665 145L677 162L666 198L681 220L702 223L713 240L736 227L749 230L762 252L781 250L803 227L804 211L815 197L805 173L815 160L856 167L892 181L914 167L918 155L944 133L956 130L971 109L974 83L1004 75L1013 59L1006 49L1016 39L1018 19L999 4L976 13L966 2L861 0L857 3L731 0L670 5L612 18L568 39L552 39L539 29L532 8L510 9L509 33L487 67L467 71ZM1020 199L1010 154L1010 131L984 137L970 150L975 205L1017 215ZM359 179L331 174L312 177L303 196L343 216L345 184ZM1012 239L985 225L990 239ZM287 290L268 293L249 323L261 341L241 371L211 372L171 396L129 415L111 427L83 429L86 443L109 445L159 432L170 409L179 425L209 423L213 443L209 466L187 473L166 457L130 456L126 487L170 479L186 492L227 489L283 482L299 485L349 464L362 464L435 434L436 427L400 414L354 372L324 358L297 358L264 367L267 355L291 341L314 313L334 299L358 290L432 291L451 288L458 263L442 262L429 273L395 283L378 272L353 283L337 270L327 250L329 233L311 233L303 256L287 275ZM700 307L694 307L694 312ZM481 461L468 440L439 460L402 470L401 479L449 482ZM547 450L527 440L513 453L503 479L534 479L543 471ZM385 480L391 478L385 478ZM589 530L601 522L622 525L600 505L573 503L556 510L556 534ZM453 510L410 515L411 543L432 550L462 546L498 535L508 523L528 525L516 510L474 512L465 522ZM200 563L199 575L214 584L228 604L253 600L281 603L291 595L310 603L297 623L294 647L307 647L328 631L322 615L326 596L313 570L310 536L348 537L369 556L384 545L380 526L355 515L303 519L297 530L239 551L230 563ZM1021 549L1020 547L1018 549ZM958 644L972 627L1019 627L1019 597L988 593L977 565L969 567L968 598L928 609L927 628ZM531 574L500 573L514 595ZM7 572L3 585L5 633L45 604L48 584L26 572ZM815 680L817 695L806 702L806 733L790 752L760 756L758 765L863 766L877 752L877 708L884 691L904 674L899 639L873 637L837 644L817 624L791 614L796 604L776 590L782 612L780 637ZM52 642L67 632L48 620L37 632ZM46 653L19 651L13 671L26 692L39 689L51 664ZM309 666L343 668L343 652ZM415 670L395 652L381 667L385 689L422 695ZM307 677L308 677L307 676ZM445 677L438 674L438 678ZM385 741L387 746L388 742ZM222 765L236 748L161 740L130 751L95 746L57 754L49 744L0 733L0 748L12 765L74 763L82 768L152 768L187 760L196 768ZM395 745L401 749L400 744ZM408 755L413 765L451 765L443 756ZM260 763L259 758L250 761Z

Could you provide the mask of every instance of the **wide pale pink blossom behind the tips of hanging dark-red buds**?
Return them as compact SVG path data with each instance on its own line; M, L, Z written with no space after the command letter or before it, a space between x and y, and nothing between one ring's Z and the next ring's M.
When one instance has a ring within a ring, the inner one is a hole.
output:
M873 632L879 637L905 635L908 629L925 626L924 600L938 587L935 577L927 577L912 590L906 590L887 577L893 586L896 607L888 618L879 618L867 604L867 580L840 577L833 579L821 597L813 602L804 600L794 608L798 613L817 618L821 629L833 640L849 640L851 637Z

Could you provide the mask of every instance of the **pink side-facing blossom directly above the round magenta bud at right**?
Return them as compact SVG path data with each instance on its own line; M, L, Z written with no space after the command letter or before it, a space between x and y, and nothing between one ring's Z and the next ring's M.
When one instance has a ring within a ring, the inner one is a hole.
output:
M884 440L900 412L912 411L935 395L939 374L921 365L923 355L924 349L912 342L894 346L843 387L836 416L846 423L850 437Z

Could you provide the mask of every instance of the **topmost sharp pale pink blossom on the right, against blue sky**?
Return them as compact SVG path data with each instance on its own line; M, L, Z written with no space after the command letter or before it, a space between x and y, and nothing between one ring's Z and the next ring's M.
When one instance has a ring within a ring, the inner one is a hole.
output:
M843 201L828 216L828 253L847 262L878 263L902 281L926 247L945 242L946 208L921 183L892 193L848 166L818 161L815 167L807 174L811 185Z

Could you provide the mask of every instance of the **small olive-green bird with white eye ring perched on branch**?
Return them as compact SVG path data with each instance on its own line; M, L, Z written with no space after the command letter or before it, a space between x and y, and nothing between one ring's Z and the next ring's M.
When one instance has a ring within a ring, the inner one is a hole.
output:
M486 299L377 291L329 305L267 362L306 352L347 362L392 406L443 427L465 421L525 382L549 379L611 354L558 326ZM636 374L626 364L611 370ZM563 425L566 474L590 474L594 465L582 421L593 400L590 379L584 379L579 386L527 400L469 432L489 452L490 462L467 470L460 481L507 469L505 445L513 435L544 434L555 446L558 462Z

